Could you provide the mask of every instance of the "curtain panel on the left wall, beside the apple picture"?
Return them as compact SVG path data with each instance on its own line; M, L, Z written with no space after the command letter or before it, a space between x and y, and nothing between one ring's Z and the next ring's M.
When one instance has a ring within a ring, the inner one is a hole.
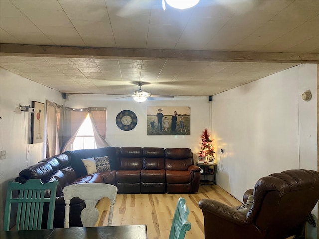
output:
M46 157L60 153L59 131L62 105L46 101Z

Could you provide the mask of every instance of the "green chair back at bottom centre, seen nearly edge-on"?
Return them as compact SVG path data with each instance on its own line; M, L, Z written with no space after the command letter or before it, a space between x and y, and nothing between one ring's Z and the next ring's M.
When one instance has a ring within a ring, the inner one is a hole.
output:
M179 198L175 209L173 222L170 229L169 239L184 239L185 234L191 228L191 223L187 221L189 208L186 206L184 198Z

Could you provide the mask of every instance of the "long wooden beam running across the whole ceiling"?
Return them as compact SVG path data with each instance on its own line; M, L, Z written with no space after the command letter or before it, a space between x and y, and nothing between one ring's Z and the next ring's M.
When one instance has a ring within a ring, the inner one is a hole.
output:
M226 62L319 63L316 53L134 49L0 44L2 56Z

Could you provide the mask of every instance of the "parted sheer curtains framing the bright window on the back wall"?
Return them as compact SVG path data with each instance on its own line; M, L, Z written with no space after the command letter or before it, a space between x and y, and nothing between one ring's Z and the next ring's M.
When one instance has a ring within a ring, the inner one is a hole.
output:
M98 148L109 146L106 141L106 108L89 107L83 109L64 108L62 150L72 150L70 147L84 122L90 115L94 138Z

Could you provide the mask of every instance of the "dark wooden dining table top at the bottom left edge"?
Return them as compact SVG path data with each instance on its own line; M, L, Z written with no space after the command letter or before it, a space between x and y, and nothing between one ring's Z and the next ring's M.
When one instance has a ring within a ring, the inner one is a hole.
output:
M146 225L1 231L1 239L147 239Z

